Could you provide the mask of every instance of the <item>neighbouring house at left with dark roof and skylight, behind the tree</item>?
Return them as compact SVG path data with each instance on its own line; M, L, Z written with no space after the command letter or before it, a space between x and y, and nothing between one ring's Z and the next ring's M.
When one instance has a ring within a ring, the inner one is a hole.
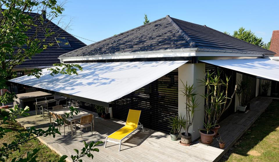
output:
M40 14L38 13L28 14L30 14L30 16L32 17L40 16ZM44 14L44 12L42 14ZM53 45L48 46L47 49L44 49L40 54L35 54L35 56L32 56L31 59L26 58L25 61L22 62L22 64L15 66L13 70L17 72L17 77L27 75L32 69L35 68L42 69L51 67L54 63L60 63L60 60L58 59L60 55L86 46L82 41L78 40L65 30L63 30L61 27L46 19L45 15L43 15L42 17L45 19L44 23L47 24L47 27L54 32L54 34L47 37L44 44L48 45L53 43ZM35 24L39 23L40 20L36 19ZM35 32L36 28L31 27L31 29L29 29L26 33L33 35ZM38 36L43 34L43 30L39 30L39 32L37 33ZM11 85L9 90L16 93L25 92L25 89L22 89L22 87L18 87L15 85Z

